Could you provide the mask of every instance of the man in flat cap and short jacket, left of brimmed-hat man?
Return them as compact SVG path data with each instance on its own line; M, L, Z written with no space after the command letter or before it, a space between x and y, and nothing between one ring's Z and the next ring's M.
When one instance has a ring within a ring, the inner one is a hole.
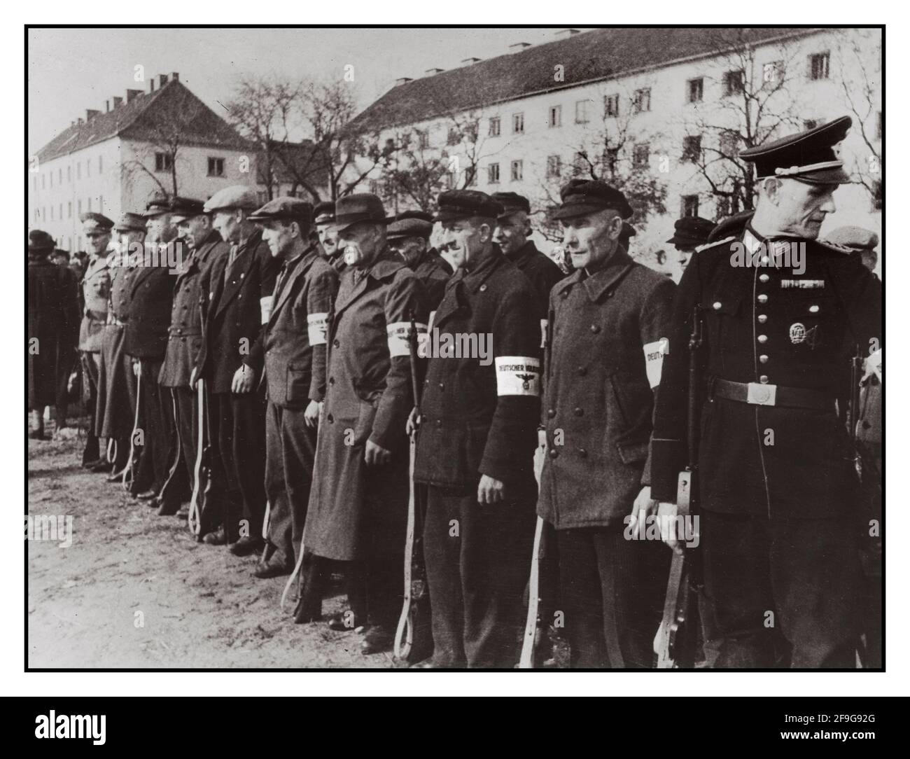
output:
M326 392L326 332L329 310L338 292L338 274L310 242L313 207L295 197L277 197L252 214L263 228L272 256L281 261L272 310L254 347L264 354L266 409L267 545L257 577L289 574L299 556L307 516L319 404ZM311 554L301 562L306 592L318 562ZM301 593L301 598L306 593ZM319 619L321 598L301 603L299 622ZM306 607L306 608L305 608Z

